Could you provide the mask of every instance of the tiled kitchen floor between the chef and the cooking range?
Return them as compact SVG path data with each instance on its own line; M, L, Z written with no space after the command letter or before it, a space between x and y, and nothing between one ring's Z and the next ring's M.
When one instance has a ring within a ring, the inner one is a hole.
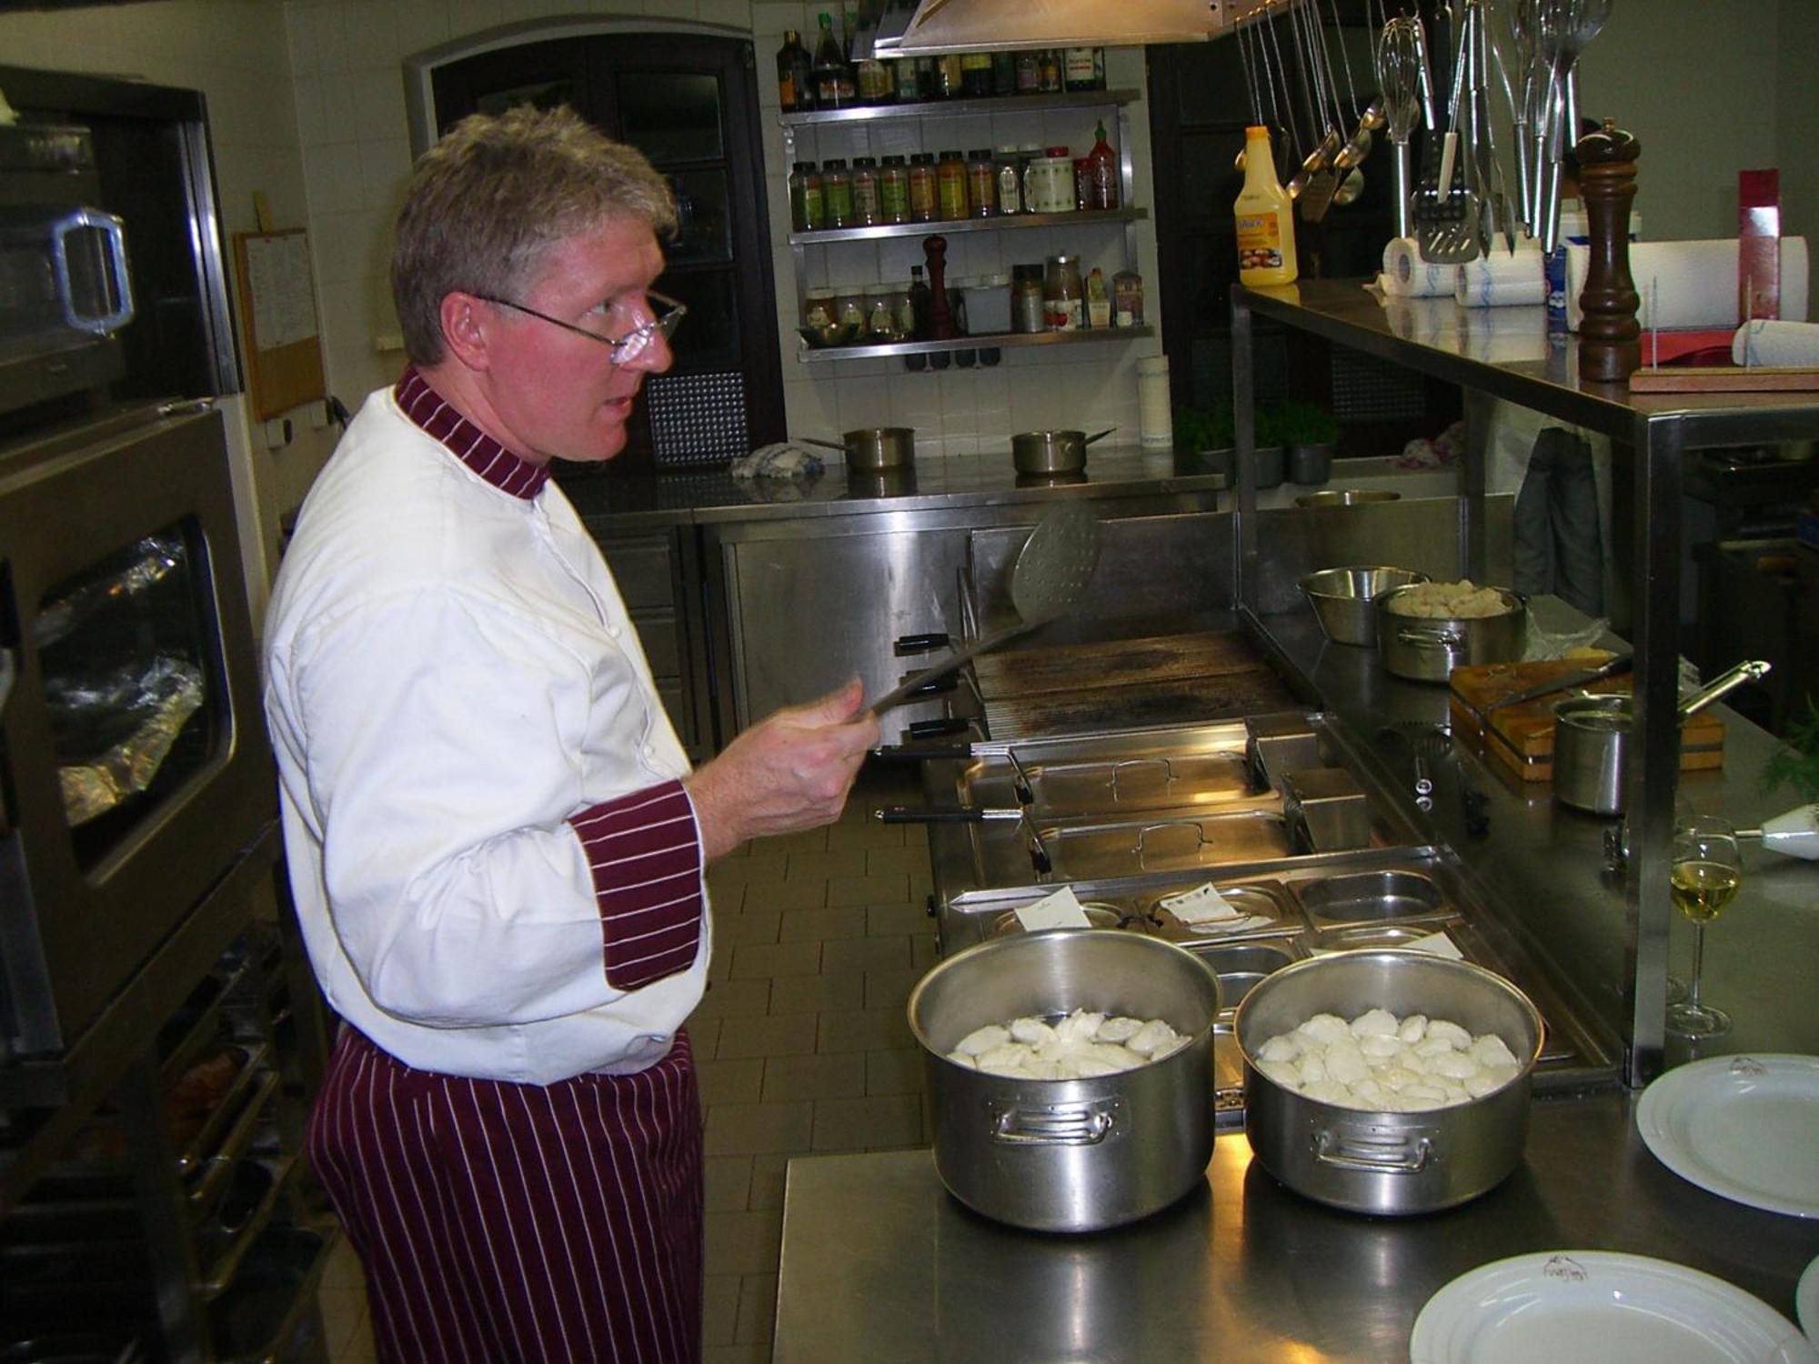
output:
M748 844L709 871L711 986L689 1018L708 1120L704 1364L771 1357L789 1157L928 1140L904 1018L935 964L928 840L922 826L871 818L915 797L911 769L866 771L839 824ZM346 1242L322 1319L335 1364L373 1360Z

